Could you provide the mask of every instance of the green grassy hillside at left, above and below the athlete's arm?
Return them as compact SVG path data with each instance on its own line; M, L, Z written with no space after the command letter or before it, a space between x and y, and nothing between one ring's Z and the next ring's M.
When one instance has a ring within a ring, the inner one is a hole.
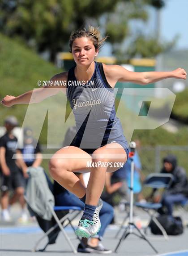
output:
M60 72L53 64L44 61L34 51L0 34L0 99L5 95L17 96L28 90L38 88L38 80L49 80ZM4 117L15 115L22 124L27 105L15 105L12 108L0 106L0 126ZM45 142L46 129L43 129L42 142Z

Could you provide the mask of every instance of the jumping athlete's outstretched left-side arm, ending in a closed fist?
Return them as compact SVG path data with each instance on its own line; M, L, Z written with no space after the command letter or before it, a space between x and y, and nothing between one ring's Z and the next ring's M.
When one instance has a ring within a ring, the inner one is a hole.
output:
M66 81L66 72L57 74L51 78L50 81L53 82L53 85L47 85L44 86L43 88L35 89L35 90L30 90L24 94L21 94L17 97L12 96L12 95L6 95L1 100L1 104L3 104L6 107L12 107L13 105L16 104L29 104L29 103L38 103L43 101L44 99L55 95L59 93L59 91L65 92L66 86L55 86L54 82L55 81ZM63 87L63 88L62 88Z

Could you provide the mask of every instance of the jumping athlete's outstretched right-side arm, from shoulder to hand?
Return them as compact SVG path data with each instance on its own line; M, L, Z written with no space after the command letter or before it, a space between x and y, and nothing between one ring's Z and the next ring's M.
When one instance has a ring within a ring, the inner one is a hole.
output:
M104 65L104 71L109 80L132 82L140 85L151 84L166 78L186 79L187 76L185 70L180 67L167 72L132 72L118 65Z

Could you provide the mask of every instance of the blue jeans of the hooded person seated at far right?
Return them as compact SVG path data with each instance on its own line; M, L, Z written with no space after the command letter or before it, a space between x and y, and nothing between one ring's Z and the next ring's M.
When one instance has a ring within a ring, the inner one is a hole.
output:
M172 215L172 211L173 211L173 206L175 203L182 203L186 200L187 198L181 194L167 194L164 195L162 198L162 206L166 206L167 207L167 214L168 215Z

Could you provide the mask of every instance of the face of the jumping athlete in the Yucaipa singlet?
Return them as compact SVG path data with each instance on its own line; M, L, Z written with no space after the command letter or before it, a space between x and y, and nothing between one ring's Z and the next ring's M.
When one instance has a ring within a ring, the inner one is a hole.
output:
M88 37L76 38L73 41L72 53L77 64L88 65L97 56L93 42Z

